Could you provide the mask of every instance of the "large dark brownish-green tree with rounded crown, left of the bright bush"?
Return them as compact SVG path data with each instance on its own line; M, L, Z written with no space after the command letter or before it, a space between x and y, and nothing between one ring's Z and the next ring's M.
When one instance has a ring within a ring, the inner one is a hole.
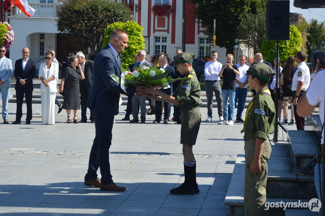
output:
M131 19L131 10L122 3L106 0L67 0L58 13L58 31L72 36L81 50L98 53L107 25Z

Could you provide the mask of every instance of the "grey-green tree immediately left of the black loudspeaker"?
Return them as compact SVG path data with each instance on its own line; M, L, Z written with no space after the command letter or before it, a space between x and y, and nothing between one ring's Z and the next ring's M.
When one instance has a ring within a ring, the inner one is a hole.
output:
M240 22L238 27L238 38L241 43L247 44L249 48L253 47L257 52L261 49L263 36L266 32L265 9L257 10L256 14L248 11Z

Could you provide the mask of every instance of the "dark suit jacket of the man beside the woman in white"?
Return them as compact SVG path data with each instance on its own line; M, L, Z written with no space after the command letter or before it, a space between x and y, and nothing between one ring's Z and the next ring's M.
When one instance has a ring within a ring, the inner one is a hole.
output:
M30 91L33 91L33 78L35 77L35 70L36 70L36 65L35 61L32 59L28 58L28 61L25 66L25 70L22 68L22 58L18 59L15 62L15 71L14 75L16 78L16 84L15 84L15 89L29 89ZM21 79L27 79L25 80L26 84L22 85L19 81Z

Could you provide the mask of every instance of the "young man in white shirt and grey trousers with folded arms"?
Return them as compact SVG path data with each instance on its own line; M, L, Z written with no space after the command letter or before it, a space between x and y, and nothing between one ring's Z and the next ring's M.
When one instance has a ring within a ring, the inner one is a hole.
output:
M208 118L205 121L212 121L213 93L218 105L219 121L224 120L222 108L222 91L219 77L219 73L222 69L222 64L220 62L217 62L217 58L217 51L212 51L211 61L205 63L204 66L205 92L208 100Z

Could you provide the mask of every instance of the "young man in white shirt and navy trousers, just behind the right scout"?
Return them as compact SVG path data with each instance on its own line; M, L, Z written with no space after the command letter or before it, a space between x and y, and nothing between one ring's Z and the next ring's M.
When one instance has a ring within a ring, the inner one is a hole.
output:
M236 115L236 122L244 122L241 118L242 112L245 108L245 102L247 97L247 75L246 71L249 69L248 65L245 65L247 57L240 55L238 58L239 63L237 64L240 76L236 74L236 96L235 96L235 107L238 100L238 108Z

